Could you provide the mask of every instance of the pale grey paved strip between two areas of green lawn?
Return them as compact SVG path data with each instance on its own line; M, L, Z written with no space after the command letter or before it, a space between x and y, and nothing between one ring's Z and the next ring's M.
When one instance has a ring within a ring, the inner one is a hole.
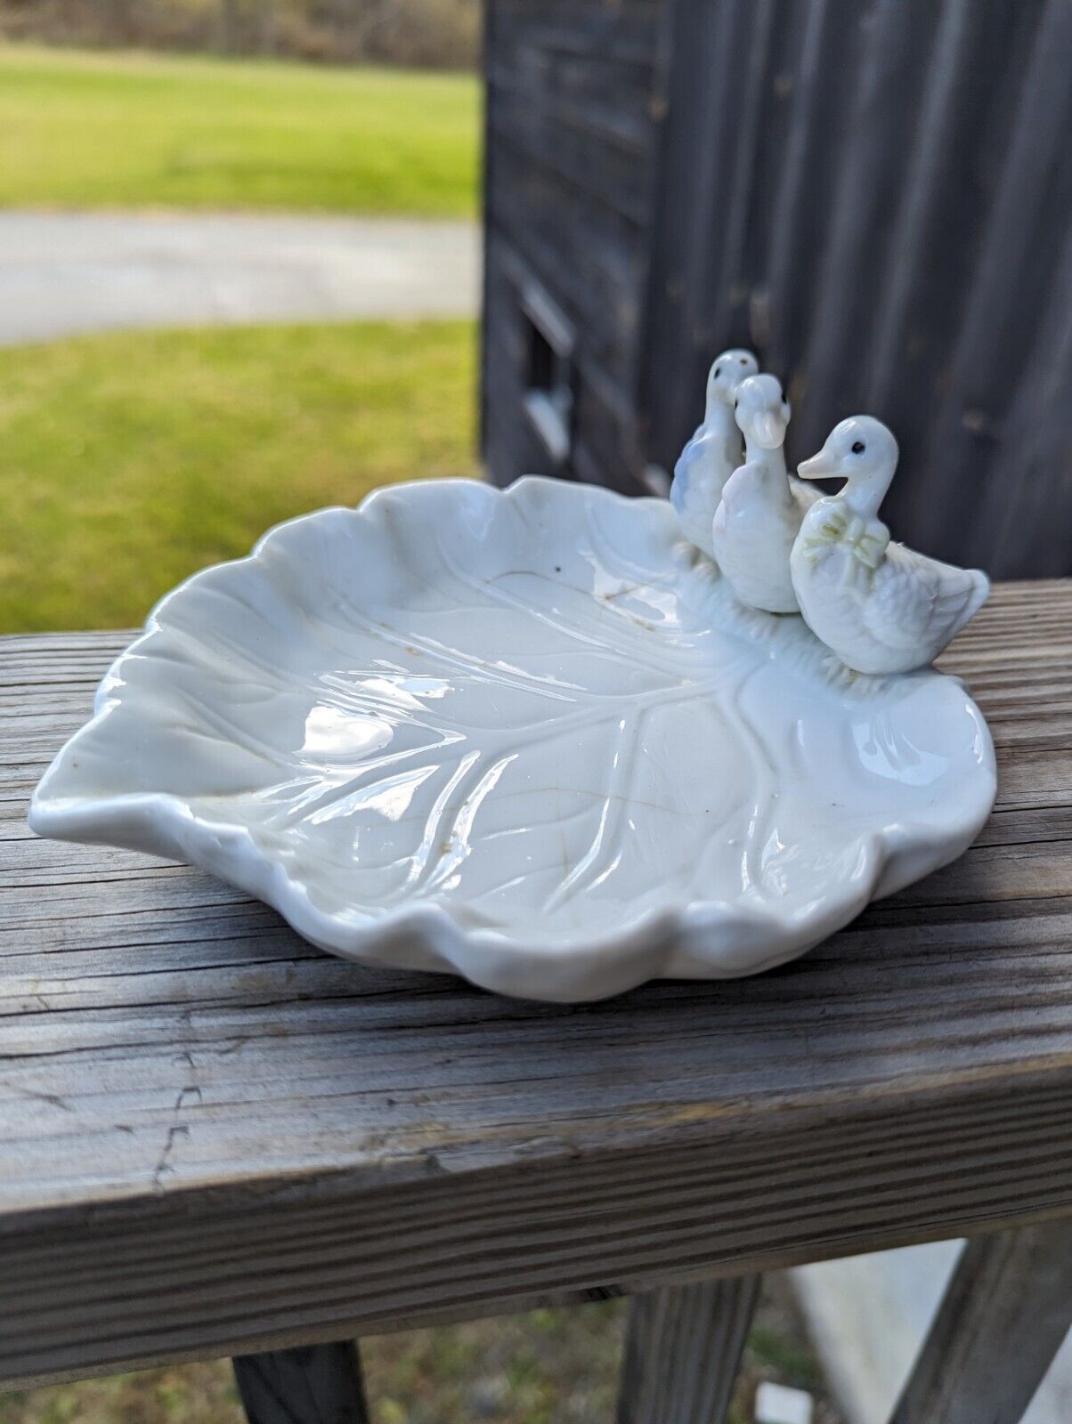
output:
M0 212L0 345L131 326L472 316L470 222Z

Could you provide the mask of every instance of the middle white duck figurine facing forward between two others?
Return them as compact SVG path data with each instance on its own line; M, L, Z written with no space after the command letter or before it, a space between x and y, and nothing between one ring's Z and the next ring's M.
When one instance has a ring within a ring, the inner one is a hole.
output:
M726 481L714 515L714 557L741 602L771 614L797 611L790 550L804 510L817 497L798 493L785 471L783 443L790 404L774 376L750 376L737 387L737 424L747 460Z

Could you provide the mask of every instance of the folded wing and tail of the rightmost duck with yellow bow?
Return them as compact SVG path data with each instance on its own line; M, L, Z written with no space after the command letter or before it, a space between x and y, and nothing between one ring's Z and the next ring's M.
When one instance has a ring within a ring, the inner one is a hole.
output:
M944 646L982 605L989 581L891 544L861 602L864 627L888 648Z

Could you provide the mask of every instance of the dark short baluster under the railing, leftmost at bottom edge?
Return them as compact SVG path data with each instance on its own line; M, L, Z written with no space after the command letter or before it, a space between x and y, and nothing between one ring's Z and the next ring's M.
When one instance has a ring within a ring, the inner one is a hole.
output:
M249 1424L371 1424L352 1340L238 1354L232 1364Z

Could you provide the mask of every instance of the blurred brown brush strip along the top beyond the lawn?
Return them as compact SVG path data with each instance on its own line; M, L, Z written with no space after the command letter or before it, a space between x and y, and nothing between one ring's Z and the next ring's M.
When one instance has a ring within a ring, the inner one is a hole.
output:
M329 64L473 68L480 0L0 0L0 36Z

